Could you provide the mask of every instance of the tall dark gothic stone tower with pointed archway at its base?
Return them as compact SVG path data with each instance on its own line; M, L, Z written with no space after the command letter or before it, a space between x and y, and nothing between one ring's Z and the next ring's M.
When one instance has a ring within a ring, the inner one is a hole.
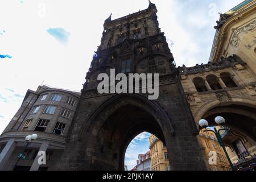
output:
M166 144L171 169L205 169L198 130L156 12L150 2L146 10L105 20L59 169L122 170L128 144L143 131ZM159 73L158 100L144 94L99 94L97 76L110 69L115 74Z

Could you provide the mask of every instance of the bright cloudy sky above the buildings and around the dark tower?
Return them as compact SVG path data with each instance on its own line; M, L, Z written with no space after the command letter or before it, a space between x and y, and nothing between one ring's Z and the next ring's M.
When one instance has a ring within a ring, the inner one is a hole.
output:
M242 0L151 2L176 65L188 67L208 62L218 13ZM116 19L147 7L148 0L1 0L0 133L27 89L36 90L43 83L81 90L100 45L104 20L110 13Z

